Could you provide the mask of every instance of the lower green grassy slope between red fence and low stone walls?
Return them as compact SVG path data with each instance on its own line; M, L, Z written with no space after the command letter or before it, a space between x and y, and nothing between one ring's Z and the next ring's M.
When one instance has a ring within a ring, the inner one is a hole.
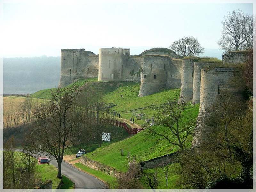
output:
M197 117L199 111L199 105L196 105L194 110L186 111L186 113L193 114L194 118ZM182 123L186 124L188 119L182 119ZM159 129L163 129L159 127ZM153 159L167 153L178 151L179 148L172 144L169 144L167 140L161 140L157 142L159 137L148 138L145 131L141 131L133 137L127 138L123 141L110 144L108 146L100 147L91 153L86 154L89 159L99 161L105 165L115 167L118 170L125 171L127 164L127 153L131 152L131 157L136 156L136 160L145 161ZM192 140L192 138L190 138ZM191 146L191 142L187 142L187 146ZM124 150L124 156L120 155L120 150Z

